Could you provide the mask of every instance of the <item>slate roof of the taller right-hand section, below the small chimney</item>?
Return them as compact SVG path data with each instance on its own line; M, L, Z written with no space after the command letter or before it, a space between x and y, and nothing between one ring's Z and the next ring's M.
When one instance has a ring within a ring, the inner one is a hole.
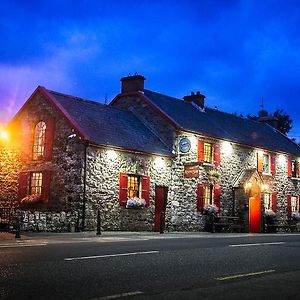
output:
M207 107L201 110L181 99L146 89L144 95L183 130L300 156L300 147L268 124Z

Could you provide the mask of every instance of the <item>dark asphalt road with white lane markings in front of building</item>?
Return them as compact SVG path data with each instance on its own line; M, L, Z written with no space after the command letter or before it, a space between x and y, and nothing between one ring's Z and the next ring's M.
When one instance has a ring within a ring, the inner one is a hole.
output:
M0 299L300 299L300 235L0 244Z

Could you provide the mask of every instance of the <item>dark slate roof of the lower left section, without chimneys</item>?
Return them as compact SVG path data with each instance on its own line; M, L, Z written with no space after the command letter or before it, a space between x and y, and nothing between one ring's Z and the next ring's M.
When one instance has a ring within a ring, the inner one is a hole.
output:
M87 134L90 142L98 145L171 155L165 146L131 112L98 102L47 90L69 116Z

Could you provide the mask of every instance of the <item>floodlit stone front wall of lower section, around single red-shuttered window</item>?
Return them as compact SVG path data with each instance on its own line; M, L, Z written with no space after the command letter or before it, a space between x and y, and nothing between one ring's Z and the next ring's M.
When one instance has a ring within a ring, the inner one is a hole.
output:
M120 172L150 176L150 205L126 209L119 204ZM155 186L171 184L168 158L88 147L86 229L95 229L100 210L104 230L152 231L154 227Z

